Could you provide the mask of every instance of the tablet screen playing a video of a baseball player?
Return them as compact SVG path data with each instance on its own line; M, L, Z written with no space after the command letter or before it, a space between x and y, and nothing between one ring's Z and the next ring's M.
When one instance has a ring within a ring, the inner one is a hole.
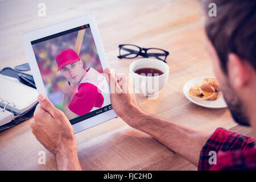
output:
M89 24L31 42L47 97L73 124L112 109Z

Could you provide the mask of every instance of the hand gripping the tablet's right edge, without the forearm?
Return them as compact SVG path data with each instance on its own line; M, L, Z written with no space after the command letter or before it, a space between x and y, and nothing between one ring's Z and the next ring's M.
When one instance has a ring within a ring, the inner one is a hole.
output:
M140 123L138 115L143 113L136 101L133 85L126 75L115 77L110 68L105 69L106 79L110 85L111 104L115 113L131 127L137 128Z

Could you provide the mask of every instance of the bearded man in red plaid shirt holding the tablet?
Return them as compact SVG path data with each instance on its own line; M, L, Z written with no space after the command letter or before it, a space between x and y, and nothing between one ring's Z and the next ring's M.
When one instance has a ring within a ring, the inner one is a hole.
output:
M234 120L241 125L251 125L256 132L256 2L210 0L205 2L206 7L212 2L220 11L217 17L206 19L205 46L213 60L214 73ZM139 108L134 93L120 92L123 86L110 69L105 73L110 83L115 83L110 88L118 89L111 94L113 109L131 127L152 135L199 170L256 169L253 138L222 128L213 134L193 130L148 114ZM132 89L126 77L122 83ZM32 133L56 155L58 169L81 169L67 118L46 97L40 95L39 102L31 122ZM40 119L42 115L47 118ZM49 126L52 126L50 130ZM57 133L59 128L62 130ZM209 151L217 152L217 164L209 164Z

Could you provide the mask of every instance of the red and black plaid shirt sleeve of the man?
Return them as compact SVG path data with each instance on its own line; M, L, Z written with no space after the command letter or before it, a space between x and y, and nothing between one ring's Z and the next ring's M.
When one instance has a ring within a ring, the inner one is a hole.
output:
M219 127L200 152L198 170L256 170L254 146L254 138Z

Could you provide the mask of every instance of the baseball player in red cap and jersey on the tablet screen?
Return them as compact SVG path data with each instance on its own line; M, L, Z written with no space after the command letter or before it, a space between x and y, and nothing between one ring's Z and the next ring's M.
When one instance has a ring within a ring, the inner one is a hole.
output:
M63 87L63 112L68 119L110 103L105 77L93 68L85 71L83 62L73 49L61 51L56 56L56 63L57 71L67 80Z

